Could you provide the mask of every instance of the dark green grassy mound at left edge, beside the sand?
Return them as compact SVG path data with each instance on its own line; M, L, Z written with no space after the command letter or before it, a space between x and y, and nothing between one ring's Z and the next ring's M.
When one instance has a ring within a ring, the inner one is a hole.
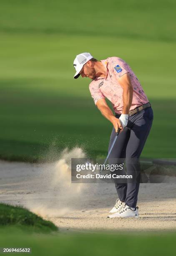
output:
M58 230L52 222L43 220L23 207L0 203L0 228L10 226L42 233Z

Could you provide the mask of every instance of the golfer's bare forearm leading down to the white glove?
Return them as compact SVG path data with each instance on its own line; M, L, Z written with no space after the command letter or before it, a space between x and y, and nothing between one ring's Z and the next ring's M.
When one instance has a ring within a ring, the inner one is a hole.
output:
M131 85L123 88L123 111L122 114L128 114L133 100L133 87Z

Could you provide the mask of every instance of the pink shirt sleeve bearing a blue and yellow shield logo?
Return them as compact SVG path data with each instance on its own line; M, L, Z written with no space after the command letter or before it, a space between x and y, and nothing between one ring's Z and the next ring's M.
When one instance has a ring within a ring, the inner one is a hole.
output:
M123 61L123 59L120 59L118 57L111 58L111 68L117 80L124 74L130 72L128 64L125 61Z

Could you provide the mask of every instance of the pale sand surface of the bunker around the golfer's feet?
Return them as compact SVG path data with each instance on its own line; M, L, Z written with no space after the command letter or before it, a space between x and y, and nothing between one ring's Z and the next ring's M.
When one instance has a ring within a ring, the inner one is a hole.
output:
M71 184L68 161L61 160L0 161L0 202L23 205L67 232L176 230L176 177L168 177L173 183L140 184L140 218L109 219L117 199L114 184Z

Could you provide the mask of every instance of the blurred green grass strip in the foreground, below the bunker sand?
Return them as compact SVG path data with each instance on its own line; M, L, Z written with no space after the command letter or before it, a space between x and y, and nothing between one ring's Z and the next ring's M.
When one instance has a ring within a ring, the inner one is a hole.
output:
M175 233L67 233L36 235L0 229L0 247L31 248L32 255L173 255Z

